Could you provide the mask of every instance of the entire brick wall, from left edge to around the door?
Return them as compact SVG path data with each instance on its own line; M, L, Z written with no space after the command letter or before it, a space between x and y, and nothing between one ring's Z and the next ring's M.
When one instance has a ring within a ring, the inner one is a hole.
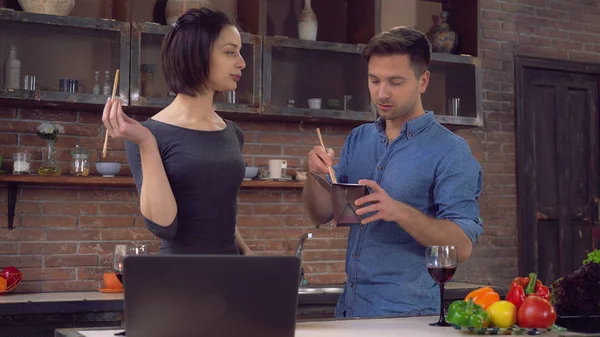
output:
M506 285L517 274L517 219L514 137L514 53L561 59L600 61L598 0L481 0L479 55L482 59L485 125L453 128L470 144L484 168L480 199L485 231L473 256L456 280ZM58 143L66 164L67 148L102 146L99 114L0 108L0 155L11 157L18 146L41 149L34 130L42 120L65 125ZM317 139L314 125L239 122L246 134L250 165L285 157L290 166L302 161ZM349 127L324 130L327 145L343 144ZM125 162L123 147L111 141L109 156ZM37 153L39 158L39 152ZM11 169L7 162L4 169ZM63 167L66 169L66 166ZM124 168L127 174L127 168ZM0 187L0 266L26 271L20 291L93 290L111 266L116 243L158 242L138 216L134 189L25 188L19 191L17 229L6 227L6 189ZM300 191L243 191L240 227L259 254L291 254L297 238L312 228L302 214ZM307 278L312 283L342 282L345 231L319 230L307 241Z

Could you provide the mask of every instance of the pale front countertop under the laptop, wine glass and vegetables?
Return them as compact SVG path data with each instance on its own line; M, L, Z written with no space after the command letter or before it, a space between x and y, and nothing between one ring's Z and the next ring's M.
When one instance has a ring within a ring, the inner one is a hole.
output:
M452 327L433 327L429 323L437 321L437 316L403 317L403 318L371 318L308 321L296 324L295 337L438 337L467 336L468 332L458 331ZM123 329L58 329L55 337L114 337L115 332ZM443 333L441 333L443 332ZM580 334L574 332L544 333L547 337L598 337L597 334Z

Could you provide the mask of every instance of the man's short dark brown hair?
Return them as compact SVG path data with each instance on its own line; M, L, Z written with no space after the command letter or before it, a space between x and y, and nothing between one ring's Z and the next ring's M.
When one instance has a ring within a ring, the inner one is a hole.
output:
M431 43L421 31L410 27L395 27L371 38L363 50L369 62L373 55L408 55L417 76L429 68Z

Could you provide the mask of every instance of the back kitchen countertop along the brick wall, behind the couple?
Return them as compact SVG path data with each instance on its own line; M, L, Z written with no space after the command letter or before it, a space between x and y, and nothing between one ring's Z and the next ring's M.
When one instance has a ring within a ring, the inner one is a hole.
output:
M482 286L484 285L449 282L446 284L444 298L446 300L461 299L471 290ZM309 287L337 288L339 291L329 293L300 293L298 297L299 306L335 306L338 297L340 296L342 285L316 285ZM504 296L507 290L503 287L493 288L495 288L501 296ZM123 293L106 294L99 291L90 291L7 294L5 296L0 296L0 316L106 311L123 311Z

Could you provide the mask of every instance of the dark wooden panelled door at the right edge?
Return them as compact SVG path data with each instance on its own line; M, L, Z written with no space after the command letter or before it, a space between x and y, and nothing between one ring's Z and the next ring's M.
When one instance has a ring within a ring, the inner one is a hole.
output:
M559 61L516 67L519 274L547 284L598 244L599 76Z

